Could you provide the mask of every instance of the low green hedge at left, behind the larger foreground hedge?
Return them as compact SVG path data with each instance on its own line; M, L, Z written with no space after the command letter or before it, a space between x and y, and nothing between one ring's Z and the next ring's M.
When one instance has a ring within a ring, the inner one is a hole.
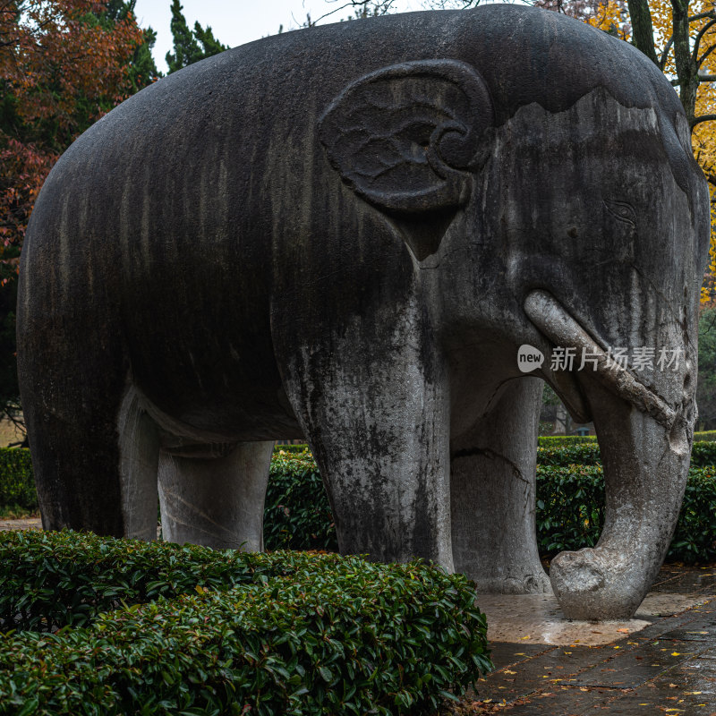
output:
M285 575L310 555L177 548L92 533L0 533L0 619L4 628L48 631L83 626L99 612L173 598L197 584L217 590Z

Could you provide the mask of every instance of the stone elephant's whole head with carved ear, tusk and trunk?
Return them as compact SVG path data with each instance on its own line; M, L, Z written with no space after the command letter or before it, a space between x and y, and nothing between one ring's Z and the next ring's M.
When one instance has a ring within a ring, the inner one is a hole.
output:
M533 375L594 421L606 524L594 549L555 558L550 579L568 618L628 618L686 485L708 191L661 72L539 14L539 32L525 21L510 33L485 14L488 30L453 58L357 79L320 138L411 251L436 335L491 354L476 410L519 376L528 343L547 356Z

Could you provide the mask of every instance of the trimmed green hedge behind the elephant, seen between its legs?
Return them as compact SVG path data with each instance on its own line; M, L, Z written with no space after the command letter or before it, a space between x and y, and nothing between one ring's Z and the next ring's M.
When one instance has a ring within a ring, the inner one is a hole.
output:
M286 451L284 447L301 447ZM18 465L27 459L27 451ZM572 445L553 444L538 448L537 526L541 554L593 546L601 530L604 505L603 478L599 445L581 440ZM713 470L716 442L695 442L692 467L677 531L669 550L669 559L711 561L716 558ZM22 482L30 479L27 469ZM5 482L11 483L5 476ZM21 494L14 488L13 495ZM24 493L27 497L28 491ZM4 495L0 493L0 504ZM32 504L37 498L32 490ZM326 490L311 453L303 446L280 446L271 463L271 474L264 514L264 543L268 550L337 550L336 528L328 505Z

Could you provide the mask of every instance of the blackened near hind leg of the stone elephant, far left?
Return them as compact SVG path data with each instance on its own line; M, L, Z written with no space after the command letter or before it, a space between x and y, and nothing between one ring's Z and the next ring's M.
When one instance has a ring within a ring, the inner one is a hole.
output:
M124 380L52 369L23 390L44 529L156 539L154 422Z

